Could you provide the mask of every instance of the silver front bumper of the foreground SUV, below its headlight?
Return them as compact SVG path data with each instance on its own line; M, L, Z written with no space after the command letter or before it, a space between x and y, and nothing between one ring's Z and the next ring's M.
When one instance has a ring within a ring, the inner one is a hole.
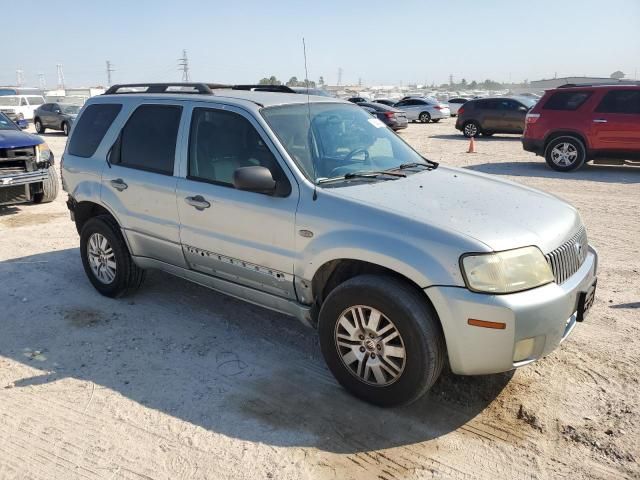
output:
M551 283L508 295L426 288L442 323L451 370L460 375L505 372L551 353L573 330L578 297L595 281L597 264L598 254L589 247L580 269L562 285ZM470 318L502 322L506 328L471 326ZM519 358L522 350L517 352L516 344L523 340L530 353Z

